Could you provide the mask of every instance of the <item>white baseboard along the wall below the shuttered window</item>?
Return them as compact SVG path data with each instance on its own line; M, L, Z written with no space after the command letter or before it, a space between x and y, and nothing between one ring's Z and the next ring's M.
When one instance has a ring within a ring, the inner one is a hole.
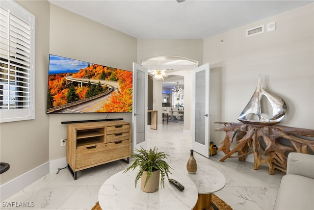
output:
M0 202L49 173L49 161L0 186Z

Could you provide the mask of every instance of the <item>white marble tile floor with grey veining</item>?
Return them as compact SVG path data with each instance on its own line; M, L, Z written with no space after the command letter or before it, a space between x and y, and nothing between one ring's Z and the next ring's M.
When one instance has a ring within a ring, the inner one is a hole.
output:
M187 162L192 145L192 137L183 133L183 124L169 122L158 126L158 130L148 129L148 146L170 155L169 163ZM217 145L219 146L219 145ZM283 172L268 174L268 167L253 169L253 163L240 162L236 158L219 160L220 154L209 159L194 152L201 167L210 165L221 171L226 178L226 186L215 192L234 210L272 210ZM78 172L74 180L67 169L56 174L52 172L30 184L4 202L28 202L31 210L90 210L98 201L101 185L111 175L124 170L128 164L118 160ZM62 167L62 166L60 166ZM1 203L0 209L22 210L22 207L8 207Z

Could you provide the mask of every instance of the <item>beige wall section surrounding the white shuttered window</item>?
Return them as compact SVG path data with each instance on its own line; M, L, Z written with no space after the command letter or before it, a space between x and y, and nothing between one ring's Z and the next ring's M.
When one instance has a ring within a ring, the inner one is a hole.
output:
M49 161L49 117L46 114L49 61L48 1L17 1L35 15L35 119L0 124L0 160L10 169L0 175L0 184Z

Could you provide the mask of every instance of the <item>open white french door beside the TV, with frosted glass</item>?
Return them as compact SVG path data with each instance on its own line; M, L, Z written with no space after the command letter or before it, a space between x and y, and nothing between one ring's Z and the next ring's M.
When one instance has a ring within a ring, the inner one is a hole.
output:
M147 69L133 63L133 152L147 149L147 79Z

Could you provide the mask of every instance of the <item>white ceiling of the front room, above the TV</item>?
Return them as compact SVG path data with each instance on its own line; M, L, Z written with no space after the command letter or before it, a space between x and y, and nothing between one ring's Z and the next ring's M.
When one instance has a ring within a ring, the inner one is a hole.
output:
M135 38L204 39L313 0L49 0ZM65 20L66 21L66 20Z

